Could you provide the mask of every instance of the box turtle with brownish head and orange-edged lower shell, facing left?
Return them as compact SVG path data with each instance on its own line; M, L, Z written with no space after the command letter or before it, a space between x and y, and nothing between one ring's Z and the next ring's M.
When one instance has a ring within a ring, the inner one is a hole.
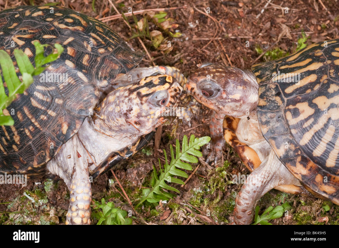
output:
M250 224L267 191L339 205L339 39L305 47L252 71L203 64L186 90L224 117L223 135L250 171L235 224Z

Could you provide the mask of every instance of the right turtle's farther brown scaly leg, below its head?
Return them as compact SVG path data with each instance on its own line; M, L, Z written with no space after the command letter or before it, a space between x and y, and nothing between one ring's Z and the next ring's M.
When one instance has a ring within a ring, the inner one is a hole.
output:
M210 119L210 133L211 142L206 145L203 149L204 155L206 156L206 163L214 161L214 165L220 160L222 152L225 149L225 139L222 133L222 122L224 116L220 116L215 111L212 111L212 117Z

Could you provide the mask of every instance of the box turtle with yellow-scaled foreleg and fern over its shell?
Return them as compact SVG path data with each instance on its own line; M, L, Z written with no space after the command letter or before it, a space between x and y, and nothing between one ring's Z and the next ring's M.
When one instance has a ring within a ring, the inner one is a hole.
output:
M70 190L66 224L89 224L92 177L147 144L180 103L185 78L172 67L133 69L142 53L104 23L63 7L4 10L0 37L13 61L20 48L33 63L35 40L64 48L4 110L15 124L0 129L0 173L59 176Z

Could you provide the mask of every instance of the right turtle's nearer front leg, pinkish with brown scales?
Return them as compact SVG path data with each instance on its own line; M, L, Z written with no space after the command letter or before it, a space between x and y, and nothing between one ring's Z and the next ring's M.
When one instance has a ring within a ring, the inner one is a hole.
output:
M251 224L254 208L264 194L278 185L295 183L298 183L298 180L271 150L270 155L250 174L237 195L234 208L235 224Z

